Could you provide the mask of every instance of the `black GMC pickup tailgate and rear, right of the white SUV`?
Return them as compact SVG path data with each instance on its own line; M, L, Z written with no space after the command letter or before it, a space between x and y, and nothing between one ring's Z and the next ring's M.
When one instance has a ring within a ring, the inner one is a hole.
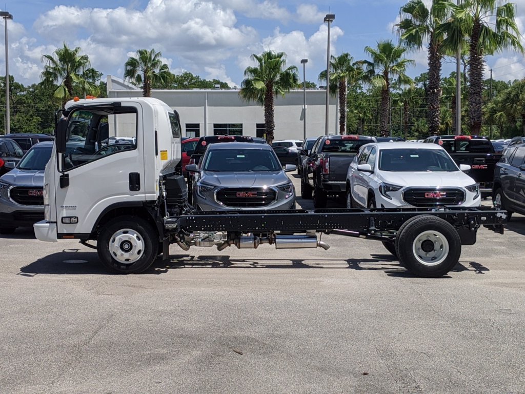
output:
M502 153L496 153L492 143L483 136L432 136L423 142L437 143L459 164L470 165L468 174L480 185L482 196L492 192L496 163Z

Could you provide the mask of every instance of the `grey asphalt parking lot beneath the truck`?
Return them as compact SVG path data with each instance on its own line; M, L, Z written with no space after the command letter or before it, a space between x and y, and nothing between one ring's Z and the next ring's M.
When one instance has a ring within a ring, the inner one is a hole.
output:
M76 241L0 237L0 391L525 392L525 217L480 229L439 279L379 242L322 240L172 246L168 264L119 276Z

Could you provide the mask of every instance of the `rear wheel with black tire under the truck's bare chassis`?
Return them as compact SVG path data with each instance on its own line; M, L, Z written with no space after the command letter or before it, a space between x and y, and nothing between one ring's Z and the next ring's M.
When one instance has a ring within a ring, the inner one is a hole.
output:
M400 263L417 276L446 275L458 263L461 239L447 221L419 215L405 223L397 234L396 251Z

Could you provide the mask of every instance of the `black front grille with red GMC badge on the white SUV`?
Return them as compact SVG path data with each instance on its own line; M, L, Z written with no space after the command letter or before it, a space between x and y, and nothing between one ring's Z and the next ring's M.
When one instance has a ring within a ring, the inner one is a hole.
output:
M465 192L456 188L412 188L405 190L403 200L413 206L459 205L465 200Z

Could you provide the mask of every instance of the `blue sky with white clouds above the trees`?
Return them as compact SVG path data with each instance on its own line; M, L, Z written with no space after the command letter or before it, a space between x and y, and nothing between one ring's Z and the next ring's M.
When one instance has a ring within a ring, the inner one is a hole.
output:
M523 34L525 0L515 3ZM308 58L307 80L317 82L326 67L323 17L328 12L335 14L331 53L366 58L366 45L397 40L392 24L403 4L395 0L7 0L2 9L14 16L8 22L9 72L23 84L38 82L41 56L66 42L82 48L92 66L105 75L122 78L129 56L137 49L155 48L172 72L187 70L238 86L244 69L253 64L250 55L268 49L284 51L288 65L300 67L300 59ZM0 33L0 73L5 74L3 27ZM426 70L424 50L407 57L416 60L409 75ZM518 54L489 57L487 70L490 67L496 79L525 76L525 60ZM444 65L444 74L453 69Z

